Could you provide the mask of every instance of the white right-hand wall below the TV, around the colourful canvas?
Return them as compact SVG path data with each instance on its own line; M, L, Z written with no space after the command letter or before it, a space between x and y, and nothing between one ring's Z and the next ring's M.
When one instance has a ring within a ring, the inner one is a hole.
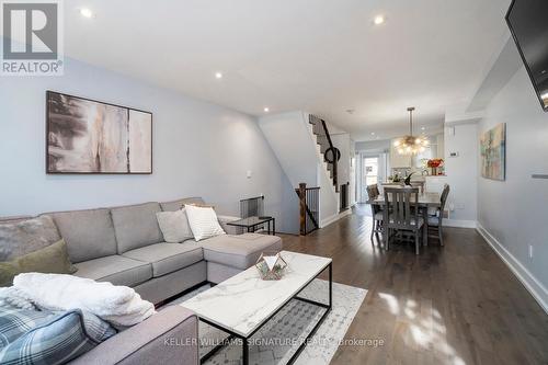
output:
M498 123L506 123L506 180L479 178L478 223L548 310L548 180L532 179L548 174L548 113L523 67L488 105L480 133Z

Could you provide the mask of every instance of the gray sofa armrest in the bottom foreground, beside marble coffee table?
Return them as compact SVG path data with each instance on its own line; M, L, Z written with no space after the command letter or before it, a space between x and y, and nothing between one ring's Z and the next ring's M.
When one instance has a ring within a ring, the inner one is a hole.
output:
M197 365L198 321L189 309L168 307L76 358L72 365Z

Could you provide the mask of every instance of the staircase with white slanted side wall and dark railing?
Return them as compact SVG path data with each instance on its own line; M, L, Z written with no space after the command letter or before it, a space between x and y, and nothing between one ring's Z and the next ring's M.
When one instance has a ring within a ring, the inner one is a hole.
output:
M302 111L265 115L258 123L290 184L307 186L301 194L297 190L297 194L292 194L295 207L300 205L299 210L305 213L300 221L306 228L301 232L336 220L341 204L338 173L341 151L334 147L327 123Z

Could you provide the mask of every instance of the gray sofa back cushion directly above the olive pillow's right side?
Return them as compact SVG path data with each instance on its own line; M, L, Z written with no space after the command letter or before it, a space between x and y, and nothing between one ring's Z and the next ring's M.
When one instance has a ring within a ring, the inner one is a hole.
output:
M53 214L72 262L116 254L111 210L90 209Z

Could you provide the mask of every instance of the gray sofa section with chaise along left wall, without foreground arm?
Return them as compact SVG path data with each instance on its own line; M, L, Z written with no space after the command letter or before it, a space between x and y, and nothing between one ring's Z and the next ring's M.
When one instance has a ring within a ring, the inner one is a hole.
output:
M205 203L190 197L47 215L67 242L75 275L134 287L155 304L204 282L220 283L254 264L262 251L282 249L279 237L254 233L165 243L156 214L184 204ZM235 232L226 225L233 219L219 216L228 232Z

